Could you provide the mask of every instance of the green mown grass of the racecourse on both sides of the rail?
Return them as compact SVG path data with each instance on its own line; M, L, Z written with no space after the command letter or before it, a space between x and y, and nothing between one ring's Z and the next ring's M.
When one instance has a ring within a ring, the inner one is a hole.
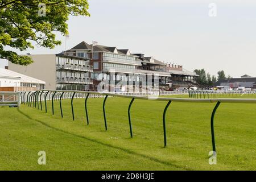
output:
M178 96L175 96L178 97ZM187 96L181 96L187 97ZM231 96L230 96L231 97ZM250 98L254 96L237 96ZM89 98L89 126L84 99L59 101L55 115L22 105L0 107L1 170L255 170L256 105L221 104L215 118L217 164L210 166L210 115L215 104L172 102L167 115L167 148L163 148L163 109L167 102L135 100L131 107L134 138L130 138L129 99ZM43 105L44 106L44 105ZM38 152L46 151L46 165Z

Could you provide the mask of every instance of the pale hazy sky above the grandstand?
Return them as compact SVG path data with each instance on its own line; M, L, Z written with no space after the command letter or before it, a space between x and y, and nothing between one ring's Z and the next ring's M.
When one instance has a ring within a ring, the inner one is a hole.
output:
M217 16L208 15L210 3ZM129 48L155 59L205 68L211 75L256 77L256 2L251 0L89 0L90 17L71 17L67 49L85 41ZM57 35L57 39L64 40ZM59 53L35 47L24 54ZM3 67L6 61L0 61Z

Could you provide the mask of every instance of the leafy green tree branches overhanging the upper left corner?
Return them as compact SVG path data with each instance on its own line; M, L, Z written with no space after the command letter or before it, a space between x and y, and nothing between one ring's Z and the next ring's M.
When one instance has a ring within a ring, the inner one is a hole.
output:
M54 32L68 35L68 16L89 16L87 0L5 0L0 1L0 58L14 64L28 65L31 57L18 56L15 51L34 48L32 43L54 48L61 42Z

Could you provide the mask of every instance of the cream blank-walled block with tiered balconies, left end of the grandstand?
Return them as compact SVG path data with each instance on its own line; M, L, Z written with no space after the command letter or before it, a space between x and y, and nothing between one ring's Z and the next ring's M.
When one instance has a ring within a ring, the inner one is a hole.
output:
M9 62L8 69L46 81L46 89L89 90L92 84L88 59L63 54L27 56L34 63L25 67Z

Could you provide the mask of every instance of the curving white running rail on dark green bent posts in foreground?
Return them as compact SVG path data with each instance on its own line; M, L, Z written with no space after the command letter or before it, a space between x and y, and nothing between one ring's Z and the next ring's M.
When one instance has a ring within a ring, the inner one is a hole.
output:
M203 92L202 92L203 93ZM184 92L184 94L186 94ZM187 94L191 94L187 92ZM129 127L130 127L130 137L133 138L133 129L131 125L131 115L130 115L130 109L133 105L134 100L151 100L151 101L165 101L167 102L166 107L163 111L163 137L164 137L164 147L167 146L167 138L166 138L166 111L168 107L170 106L171 102L200 102L200 103L216 103L216 106L214 107L210 119L210 129L211 129L211 135L212 135L212 147L213 151L216 152L215 147L215 138L214 138L214 115L216 113L216 110L218 109L218 106L222 102L224 103L256 103L256 99L237 99L237 98L164 98L164 97L146 97L146 96L134 96L134 95L126 95L126 94L117 94L117 93L109 93L109 92L87 92L87 91L75 91L75 90L38 90L36 92L24 92L21 93L22 98L22 104L26 104L30 107L36 107L37 109L43 110L43 107L45 107L45 111L47 113L47 100L52 102L52 114L54 115L54 101L59 100L60 103L60 111L61 111L61 117L63 118L63 110L61 101L63 99L71 98L71 110L72 110L72 117L73 121L75 121L75 112L73 110L73 99L76 98L84 98L84 107L85 107L85 116L87 125L89 125L89 115L87 110L87 101L90 97L104 97L104 102L102 105L103 115L104 115L104 124L105 124L105 130L108 130L108 125L106 121L106 113L105 113L105 104L108 97L123 97L123 98L131 98L127 115L128 115L128 121L129 121ZM44 103L43 103L44 101ZM44 106L43 106L44 104Z

